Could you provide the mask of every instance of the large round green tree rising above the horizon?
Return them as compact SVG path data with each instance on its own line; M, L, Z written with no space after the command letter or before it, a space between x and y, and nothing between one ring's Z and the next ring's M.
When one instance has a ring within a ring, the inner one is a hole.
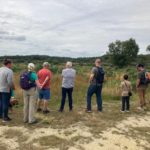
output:
M108 55L111 57L111 61L118 67L129 65L136 59L139 52L139 46L134 39L126 41L119 41L109 44Z

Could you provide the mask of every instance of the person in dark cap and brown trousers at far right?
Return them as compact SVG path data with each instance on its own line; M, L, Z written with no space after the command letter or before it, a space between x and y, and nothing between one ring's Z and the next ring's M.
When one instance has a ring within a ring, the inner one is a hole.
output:
M139 95L139 107L137 107L138 110L144 110L146 107L146 89L148 87L148 78L146 78L146 70L143 64L137 65L137 71L138 71L138 77L136 82L136 88Z

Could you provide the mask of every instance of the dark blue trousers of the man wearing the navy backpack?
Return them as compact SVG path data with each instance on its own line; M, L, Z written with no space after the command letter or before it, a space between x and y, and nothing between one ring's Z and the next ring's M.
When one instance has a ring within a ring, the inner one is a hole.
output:
M91 98L96 94L97 109L102 111L102 85L90 85L87 92L87 110L91 110Z

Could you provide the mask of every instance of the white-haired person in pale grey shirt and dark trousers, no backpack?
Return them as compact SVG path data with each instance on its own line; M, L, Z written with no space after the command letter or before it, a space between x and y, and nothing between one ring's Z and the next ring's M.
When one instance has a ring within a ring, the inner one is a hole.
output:
M61 106L59 111L63 112L66 96L68 95L69 101L69 110L72 111L73 109L73 99L72 93L74 88L74 80L75 80L76 71L72 68L72 62L66 63L66 68L62 70L62 99L61 99Z

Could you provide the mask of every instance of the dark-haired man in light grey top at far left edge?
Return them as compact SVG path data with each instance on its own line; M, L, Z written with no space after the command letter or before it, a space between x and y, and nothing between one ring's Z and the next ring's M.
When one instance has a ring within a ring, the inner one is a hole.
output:
M15 89L13 82L12 62L4 60L4 66L0 68L0 118L3 122L10 121L8 109L10 104L10 91Z

